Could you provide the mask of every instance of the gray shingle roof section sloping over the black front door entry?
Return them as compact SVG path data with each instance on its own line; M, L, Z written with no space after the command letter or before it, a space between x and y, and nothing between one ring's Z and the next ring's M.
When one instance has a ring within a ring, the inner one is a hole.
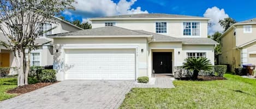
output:
M178 39L176 37L171 37L171 36L151 33L151 32L144 31L144 30L135 30L135 31L138 31L138 32L141 32L141 33L145 33L145 34L153 35L153 39L154 39L155 42L182 42L181 39Z

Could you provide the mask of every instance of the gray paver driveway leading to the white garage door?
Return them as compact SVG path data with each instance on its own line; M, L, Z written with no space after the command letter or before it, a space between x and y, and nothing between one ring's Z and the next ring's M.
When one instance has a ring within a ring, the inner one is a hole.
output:
M134 81L66 80L0 101L0 108L118 108Z

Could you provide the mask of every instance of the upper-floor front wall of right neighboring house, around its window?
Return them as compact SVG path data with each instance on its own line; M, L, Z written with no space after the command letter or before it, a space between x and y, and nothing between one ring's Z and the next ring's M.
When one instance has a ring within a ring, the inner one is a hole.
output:
M236 25L236 46L256 40L256 24L252 25L252 33L243 33L243 25Z

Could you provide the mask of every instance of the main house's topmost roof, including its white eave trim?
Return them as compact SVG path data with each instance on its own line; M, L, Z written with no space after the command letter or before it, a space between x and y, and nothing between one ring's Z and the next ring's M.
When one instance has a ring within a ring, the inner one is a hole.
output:
M105 20L105 19L138 19L138 18L166 18L166 19L205 19L210 20L210 18L206 17L198 17L198 16L186 16L186 15L172 15L172 14L129 14L129 15L118 15L118 16L107 16L107 17L95 17L89 18L90 20Z

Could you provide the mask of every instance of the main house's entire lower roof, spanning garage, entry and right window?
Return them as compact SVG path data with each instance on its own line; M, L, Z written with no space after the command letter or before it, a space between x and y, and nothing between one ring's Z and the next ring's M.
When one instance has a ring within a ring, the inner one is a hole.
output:
M209 38L177 38L144 30L129 30L109 26L69 33L50 35L51 38L90 38L90 37L153 37L153 42L182 42L182 44L218 44Z

